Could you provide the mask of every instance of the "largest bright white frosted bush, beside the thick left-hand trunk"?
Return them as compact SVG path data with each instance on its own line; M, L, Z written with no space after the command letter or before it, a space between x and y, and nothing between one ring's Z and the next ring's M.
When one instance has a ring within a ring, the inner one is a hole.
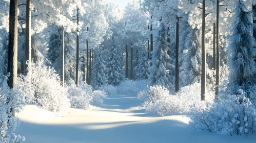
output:
M68 112L70 102L67 91L61 86L56 71L46 66L43 61L32 63L28 75L19 77L17 84L26 93L27 102L52 110L56 116Z

